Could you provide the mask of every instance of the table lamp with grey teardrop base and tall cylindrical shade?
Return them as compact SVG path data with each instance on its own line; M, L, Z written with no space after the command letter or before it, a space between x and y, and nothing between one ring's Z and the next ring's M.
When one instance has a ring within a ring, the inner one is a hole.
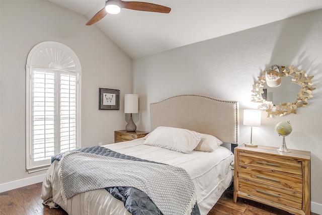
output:
M139 96L137 94L125 94L124 96L124 113L131 114L125 128L127 131L135 131L136 125L133 122L132 113L139 112Z

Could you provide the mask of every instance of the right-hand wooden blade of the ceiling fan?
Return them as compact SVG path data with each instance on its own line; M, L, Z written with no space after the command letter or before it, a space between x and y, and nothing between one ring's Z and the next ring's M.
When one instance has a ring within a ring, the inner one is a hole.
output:
M117 1L121 4L122 8L136 10L136 11L147 11L147 12L157 12L157 13L165 13L169 14L171 8L162 5L156 5L152 3L146 2L124 2L124 1Z

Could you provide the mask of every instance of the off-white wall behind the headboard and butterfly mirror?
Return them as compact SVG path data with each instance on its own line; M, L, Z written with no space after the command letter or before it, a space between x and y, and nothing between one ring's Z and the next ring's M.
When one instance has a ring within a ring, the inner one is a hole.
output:
M267 118L266 112L262 112L262 126L254 127L253 142L279 147L282 137L276 133L275 125L289 120L293 132L286 137L287 147L311 152L311 200L314 205L322 206L321 35L322 10L319 10L134 59L132 87L140 98L138 129L150 130L151 102L180 94L209 95L239 101L239 143L243 144L250 140L250 127L243 125L243 109L258 106L251 102L257 77L273 64L294 64L314 76L313 86L317 88L313 91L314 97L297 114Z

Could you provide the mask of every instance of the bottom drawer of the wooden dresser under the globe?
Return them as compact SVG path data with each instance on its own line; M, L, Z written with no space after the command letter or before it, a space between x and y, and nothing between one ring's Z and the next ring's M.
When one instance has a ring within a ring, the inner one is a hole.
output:
M299 193L268 187L263 184L253 183L242 179L239 180L239 191L262 198L264 202L267 199L297 209L302 208L302 194Z

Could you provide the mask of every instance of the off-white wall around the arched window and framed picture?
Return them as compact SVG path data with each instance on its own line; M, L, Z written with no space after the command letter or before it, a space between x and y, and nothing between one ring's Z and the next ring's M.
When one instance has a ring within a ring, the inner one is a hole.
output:
M39 180L36 176L45 173L26 173L25 64L31 48L43 41L60 42L81 61L82 147L114 142L114 130L125 128L123 99L131 93L131 59L95 25L86 26L83 15L47 1L0 4L0 185L15 181L14 186L23 186L21 179ZM99 88L120 90L120 110L98 110Z

